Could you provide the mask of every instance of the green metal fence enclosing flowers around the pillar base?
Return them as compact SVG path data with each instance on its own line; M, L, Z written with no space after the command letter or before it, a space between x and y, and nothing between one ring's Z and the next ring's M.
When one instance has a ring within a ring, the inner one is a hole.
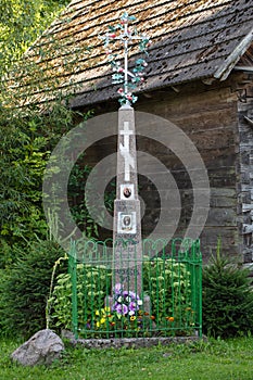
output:
M75 337L201 337L199 240L174 239L169 246L163 240L143 240L141 259L132 255L132 242L118 245L124 250L116 257L109 240L86 242L81 256L72 246L68 267ZM126 255L128 245L131 250Z

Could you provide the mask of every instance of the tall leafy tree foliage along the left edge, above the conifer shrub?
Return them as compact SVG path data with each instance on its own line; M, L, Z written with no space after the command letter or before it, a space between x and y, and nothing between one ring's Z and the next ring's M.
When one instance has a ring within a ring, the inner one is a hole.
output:
M34 47L23 52L45 29L66 0L3 0L0 2L0 266L13 262L15 245L47 239L48 226L42 212L42 179L48 157L59 139L84 117L68 109L68 93L50 78L51 100L36 105L30 93L45 85L45 54L66 49L50 40L47 51ZM71 38L71 37L69 37ZM65 51L65 50L64 50ZM36 56L36 60L34 60ZM78 60L74 52L64 64L72 72ZM52 72L53 62L51 62ZM27 78L30 86L27 86ZM21 91L24 89L24 92ZM39 94L38 97L42 97Z

